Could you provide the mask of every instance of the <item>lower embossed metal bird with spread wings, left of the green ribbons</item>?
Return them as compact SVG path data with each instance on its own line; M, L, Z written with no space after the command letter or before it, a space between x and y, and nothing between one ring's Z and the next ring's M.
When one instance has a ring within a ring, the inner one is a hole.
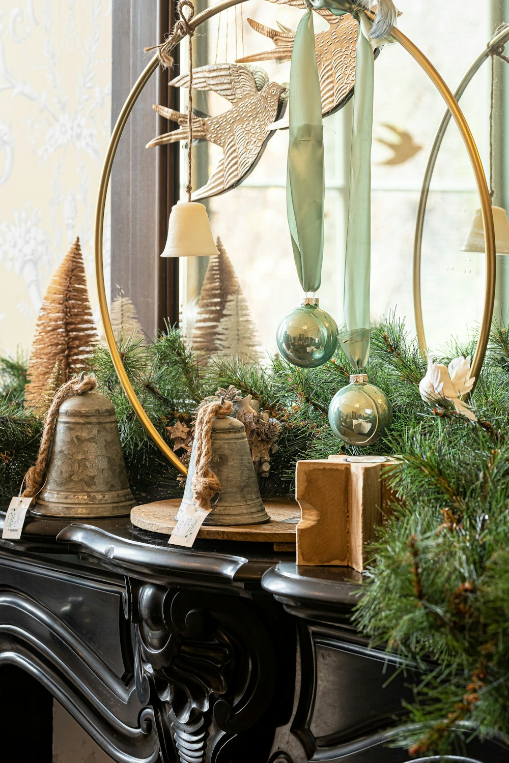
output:
M201 66L192 73L195 89L214 91L232 104L232 108L217 116L196 114L193 117L194 140L208 140L223 149L223 157L206 185L192 194L193 201L198 201L234 188L252 172L273 134L269 125L285 111L288 88L269 82L266 71L257 66L219 63ZM169 84L187 87L188 79L185 74ZM147 148L187 139L186 114L166 106L154 105L153 109L179 124L179 129L150 140Z

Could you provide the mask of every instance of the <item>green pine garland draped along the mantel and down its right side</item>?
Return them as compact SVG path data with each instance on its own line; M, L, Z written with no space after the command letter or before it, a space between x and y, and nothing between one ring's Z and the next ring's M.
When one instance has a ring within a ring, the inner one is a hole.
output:
M421 672L407 708L407 735L397 740L417 757L449 753L472 733L509 728L508 336L504 326L492 332L472 399L478 420L472 421L446 404L433 408L421 400L418 382L427 364L404 324L391 317L374 327L367 370L388 394L394 419L385 439L366 449L344 446L327 422L330 399L349 381L340 350L330 362L305 370L278 358L259 365L217 357L203 366L174 329L152 344L134 338L120 343L134 389L169 443L168 428L188 425L197 404L218 387L234 385L253 395L260 410L279 420L269 478L260 481L264 494L293 491L297 459L334 452L399 456L390 468L398 502L372 549L355 618L374 645L385 645ZM451 343L442 360L470 349L471 343ZM22 371L8 369L9 362L0 363L2 449L9 443L3 461L0 453L4 501L18 490L40 433L18 402ZM105 347L95 349L92 369L116 407L138 499L182 494L176 471L135 417ZM11 372L10 392L5 380Z

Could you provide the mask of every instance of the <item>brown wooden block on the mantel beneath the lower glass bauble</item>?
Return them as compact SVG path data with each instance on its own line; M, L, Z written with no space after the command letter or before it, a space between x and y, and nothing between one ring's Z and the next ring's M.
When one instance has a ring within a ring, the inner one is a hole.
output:
M362 572L364 546L388 516L394 495L379 463L348 462L349 456L298 461L295 497L302 510L297 525L297 563L336 565Z

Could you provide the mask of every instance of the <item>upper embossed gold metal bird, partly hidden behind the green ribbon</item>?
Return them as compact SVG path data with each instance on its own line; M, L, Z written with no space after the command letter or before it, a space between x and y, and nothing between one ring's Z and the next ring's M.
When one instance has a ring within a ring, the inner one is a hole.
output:
M270 0L277 5L292 5L305 10L303 0ZM322 101L322 114L333 114L353 95L355 84L357 30L358 24L350 15L335 16L330 11L316 11L329 24L326 31L318 32L314 37L317 56L318 77ZM253 53L238 59L238 63L254 61L286 61L292 58L295 32L282 24L279 30L266 27L248 18L248 23L259 34L269 37L275 47L261 53ZM288 127L288 120L279 121L274 127Z

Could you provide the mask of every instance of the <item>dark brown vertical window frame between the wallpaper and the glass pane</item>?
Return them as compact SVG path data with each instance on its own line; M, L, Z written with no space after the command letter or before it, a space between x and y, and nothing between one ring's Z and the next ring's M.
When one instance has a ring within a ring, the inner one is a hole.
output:
M113 0L111 124L149 58L143 47L164 39L176 18L169 0ZM137 309L143 330L155 336L166 320L179 320L179 260L161 258L169 211L179 198L179 151L174 146L145 150L168 130L153 103L179 108L179 93L168 82L179 71L159 67L127 121L111 172L111 298L123 288Z

